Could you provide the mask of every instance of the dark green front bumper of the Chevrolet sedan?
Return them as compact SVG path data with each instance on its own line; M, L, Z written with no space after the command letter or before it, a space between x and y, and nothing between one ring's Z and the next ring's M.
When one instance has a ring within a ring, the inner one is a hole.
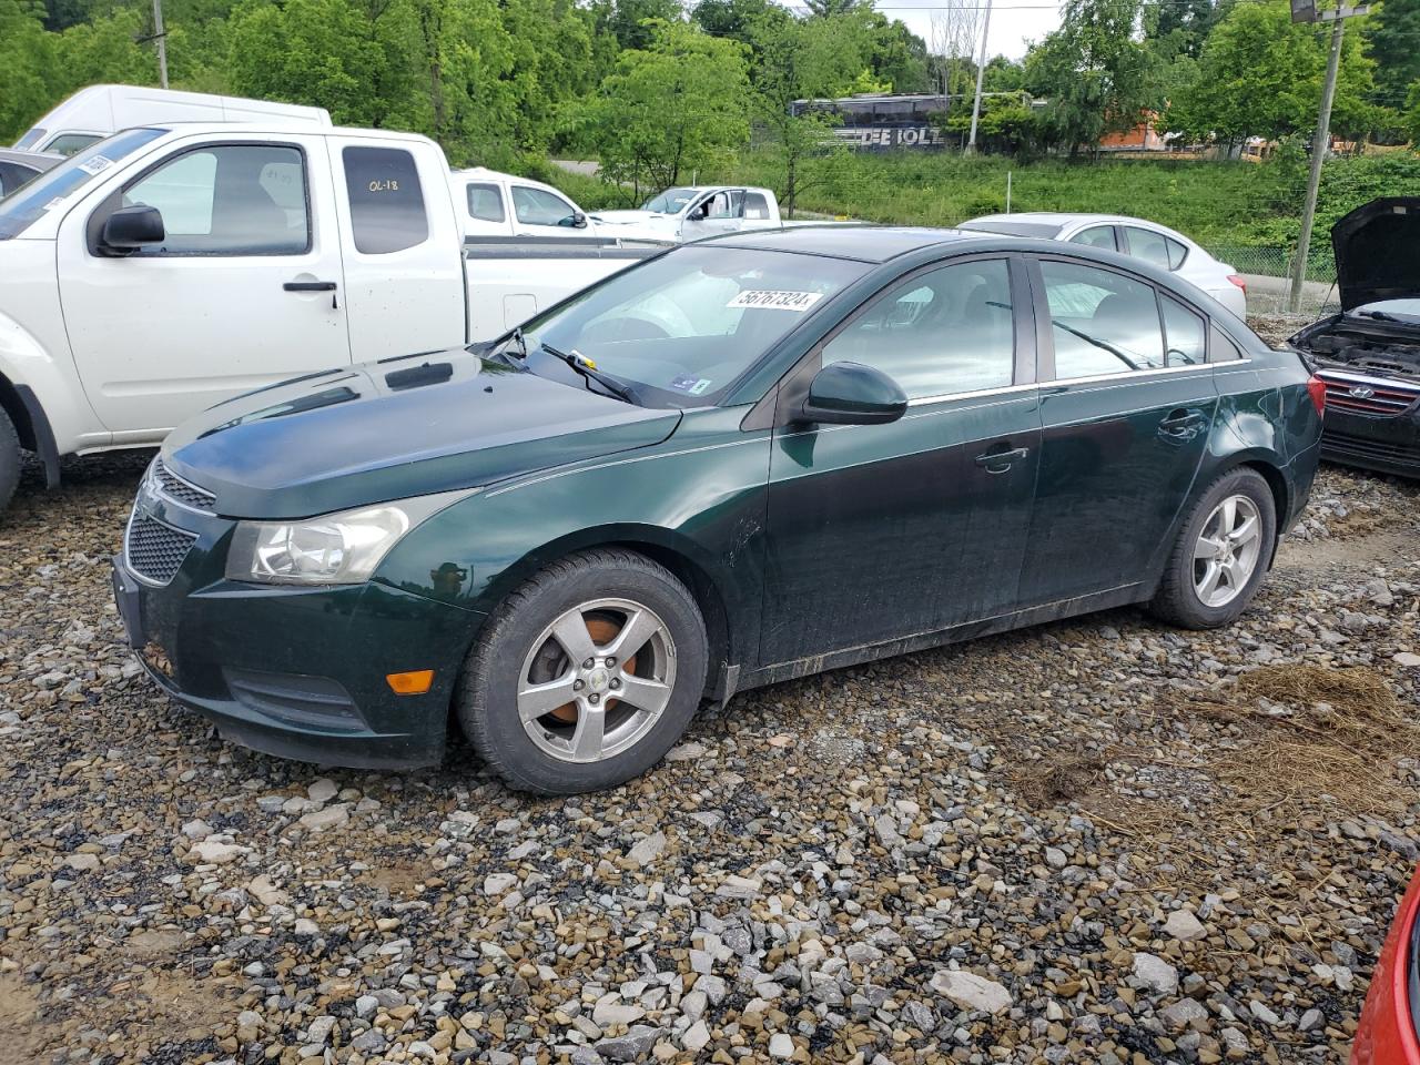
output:
M114 559L129 643L175 700L222 736L266 754L354 768L443 757L449 706L483 616L381 584L263 586L222 577L234 523L206 525L166 585ZM216 523L216 524L213 524ZM222 525L222 527L217 527ZM426 694L396 696L388 673L433 669Z

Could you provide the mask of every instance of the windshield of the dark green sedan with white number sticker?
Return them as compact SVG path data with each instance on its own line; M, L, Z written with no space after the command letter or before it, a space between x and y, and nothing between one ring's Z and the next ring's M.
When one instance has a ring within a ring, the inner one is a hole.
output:
M534 318L523 335L530 354L545 342L591 359L646 406L713 406L811 310L866 270L822 256L679 247Z

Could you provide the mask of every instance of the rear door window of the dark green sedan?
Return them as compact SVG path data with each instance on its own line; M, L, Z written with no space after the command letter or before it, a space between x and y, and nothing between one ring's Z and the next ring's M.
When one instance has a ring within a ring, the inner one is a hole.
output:
M1055 378L1091 378L1164 365L1152 285L1082 263L1041 263L1055 345Z

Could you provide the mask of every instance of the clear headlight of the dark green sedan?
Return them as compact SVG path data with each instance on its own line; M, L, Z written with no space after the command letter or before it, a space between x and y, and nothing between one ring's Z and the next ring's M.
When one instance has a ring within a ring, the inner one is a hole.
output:
M359 584L409 530L477 488L416 496L300 521L241 521L227 552L229 581Z

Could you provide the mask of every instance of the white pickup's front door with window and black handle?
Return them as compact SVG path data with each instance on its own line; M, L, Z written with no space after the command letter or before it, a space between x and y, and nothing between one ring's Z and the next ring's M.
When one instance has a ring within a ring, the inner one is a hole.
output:
M105 250L149 204L166 237ZM84 390L114 443L145 443L239 392L349 362L325 141L178 142L64 219L60 300ZM337 307L337 304L339 304Z

